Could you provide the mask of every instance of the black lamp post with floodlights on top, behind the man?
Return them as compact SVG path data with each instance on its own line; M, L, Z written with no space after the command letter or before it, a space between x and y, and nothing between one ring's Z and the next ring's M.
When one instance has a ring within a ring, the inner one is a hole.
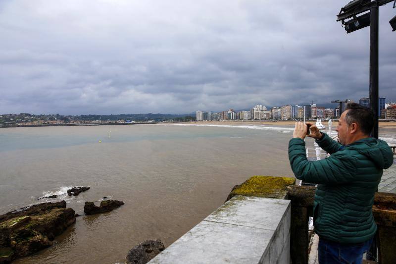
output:
M341 8L337 21L342 21L347 33L370 26L370 109L374 112L371 136L378 138L378 7L394 0L353 0ZM395 8L395 4L393 6ZM363 15L360 13L369 11ZM351 18L351 19L349 19ZM349 19L347 22L346 19ZM396 16L389 21L396 30ZM341 115L341 113L340 113Z

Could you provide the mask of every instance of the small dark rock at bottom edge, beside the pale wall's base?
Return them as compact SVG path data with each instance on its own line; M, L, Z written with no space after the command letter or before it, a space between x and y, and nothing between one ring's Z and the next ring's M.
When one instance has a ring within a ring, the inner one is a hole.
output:
M146 264L165 249L161 240L146 240L128 252L126 264Z

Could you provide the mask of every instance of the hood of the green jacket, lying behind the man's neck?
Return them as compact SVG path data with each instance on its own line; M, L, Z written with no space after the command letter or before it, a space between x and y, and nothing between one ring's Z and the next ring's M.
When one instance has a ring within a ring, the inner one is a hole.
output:
M370 158L380 168L387 169L393 164L393 152L381 139L364 138L346 147Z

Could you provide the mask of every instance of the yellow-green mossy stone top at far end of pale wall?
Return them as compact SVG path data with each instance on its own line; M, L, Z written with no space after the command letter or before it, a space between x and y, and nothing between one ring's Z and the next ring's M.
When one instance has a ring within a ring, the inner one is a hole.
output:
M241 185L235 185L226 201L236 195L284 199L286 187L295 181L294 177L252 176Z

